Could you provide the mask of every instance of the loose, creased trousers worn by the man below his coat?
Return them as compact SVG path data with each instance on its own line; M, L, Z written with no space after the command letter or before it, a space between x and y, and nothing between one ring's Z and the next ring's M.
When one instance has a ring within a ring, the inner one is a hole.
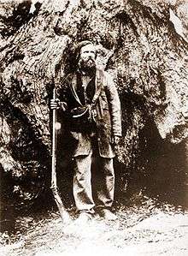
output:
M97 156L100 182L97 184L97 207L110 208L114 201L115 171L113 158ZM94 213L91 184L92 151L74 158L73 197L78 211Z

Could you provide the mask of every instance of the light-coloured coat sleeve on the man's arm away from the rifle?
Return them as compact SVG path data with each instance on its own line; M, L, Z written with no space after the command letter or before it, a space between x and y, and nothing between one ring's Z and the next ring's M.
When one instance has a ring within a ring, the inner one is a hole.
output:
M121 136L121 110L120 98L111 75L106 73L106 90L111 115L112 131L114 136Z

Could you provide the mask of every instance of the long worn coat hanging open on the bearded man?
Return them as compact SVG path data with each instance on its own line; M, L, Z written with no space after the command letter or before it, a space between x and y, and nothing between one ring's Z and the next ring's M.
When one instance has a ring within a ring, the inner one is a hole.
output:
M75 107L82 106L77 95L77 75L68 74L63 81L60 100L67 104L67 114ZM112 77L97 69L95 77L95 104L97 141L99 154L103 158L114 158L112 136L121 136L120 99ZM85 132L86 123L82 118L67 115L66 136L70 134L73 144L73 157L88 155L91 152L91 134Z

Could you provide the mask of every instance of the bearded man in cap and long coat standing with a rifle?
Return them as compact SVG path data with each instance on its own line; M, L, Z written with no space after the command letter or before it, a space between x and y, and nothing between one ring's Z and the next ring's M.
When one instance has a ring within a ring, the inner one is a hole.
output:
M113 158L121 136L120 99L112 78L96 66L97 51L90 41L76 48L76 71L68 74L51 100L51 109L64 113L65 131L73 145L73 197L79 219L89 220L95 203L91 187L91 160L97 157L101 186L97 209L102 217L116 218L111 211L115 191Z

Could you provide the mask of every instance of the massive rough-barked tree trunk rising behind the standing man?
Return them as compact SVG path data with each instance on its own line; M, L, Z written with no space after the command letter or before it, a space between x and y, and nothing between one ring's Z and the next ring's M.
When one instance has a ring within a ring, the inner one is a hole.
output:
M73 45L82 39L97 44L97 63L115 76L120 93L119 176L128 174L138 185L136 177L156 177L156 165L162 181L174 175L170 164L163 176L162 163L179 145L184 152L188 136L186 6L167 0L1 1L0 170L17 201L37 197L50 177L49 98L53 84L73 68ZM179 172L175 181L187 170Z

